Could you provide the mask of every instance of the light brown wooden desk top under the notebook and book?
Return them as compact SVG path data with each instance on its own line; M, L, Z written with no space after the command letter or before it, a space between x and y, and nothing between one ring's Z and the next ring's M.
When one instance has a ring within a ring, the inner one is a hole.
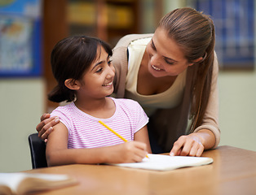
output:
M40 194L104 195L255 195L256 152L220 146L202 155L214 163L173 171L147 171L107 165L68 165L29 170L68 174L79 184Z

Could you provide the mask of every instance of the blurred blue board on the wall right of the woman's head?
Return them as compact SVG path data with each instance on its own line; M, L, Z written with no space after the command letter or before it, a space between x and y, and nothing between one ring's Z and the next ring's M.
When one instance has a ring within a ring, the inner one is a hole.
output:
M254 0L194 0L214 20L215 50L224 70L254 69Z

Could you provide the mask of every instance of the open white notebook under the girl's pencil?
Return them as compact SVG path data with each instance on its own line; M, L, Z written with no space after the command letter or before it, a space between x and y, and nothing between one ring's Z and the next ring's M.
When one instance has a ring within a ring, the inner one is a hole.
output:
M140 168L156 171L170 171L181 167L196 167L213 163L213 158L169 156L161 154L148 154L141 163L118 163L113 164L119 167Z

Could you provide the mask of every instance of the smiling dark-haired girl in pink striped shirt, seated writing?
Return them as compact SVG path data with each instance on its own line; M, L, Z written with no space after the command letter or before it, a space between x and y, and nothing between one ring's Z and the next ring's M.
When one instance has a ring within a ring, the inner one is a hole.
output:
M48 166L140 162L151 153L148 116L139 103L108 97L113 93L115 76L112 54L107 43L86 36L64 38L52 50L51 67L58 85L48 98L71 103L51 113L61 123L47 139Z

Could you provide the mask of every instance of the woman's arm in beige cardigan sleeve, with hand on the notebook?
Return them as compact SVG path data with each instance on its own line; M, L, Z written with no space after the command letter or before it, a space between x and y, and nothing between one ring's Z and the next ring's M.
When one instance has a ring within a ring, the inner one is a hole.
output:
M218 60L215 54L210 98L201 126L174 142L170 155L201 156L204 150L216 148L220 140L218 128Z

